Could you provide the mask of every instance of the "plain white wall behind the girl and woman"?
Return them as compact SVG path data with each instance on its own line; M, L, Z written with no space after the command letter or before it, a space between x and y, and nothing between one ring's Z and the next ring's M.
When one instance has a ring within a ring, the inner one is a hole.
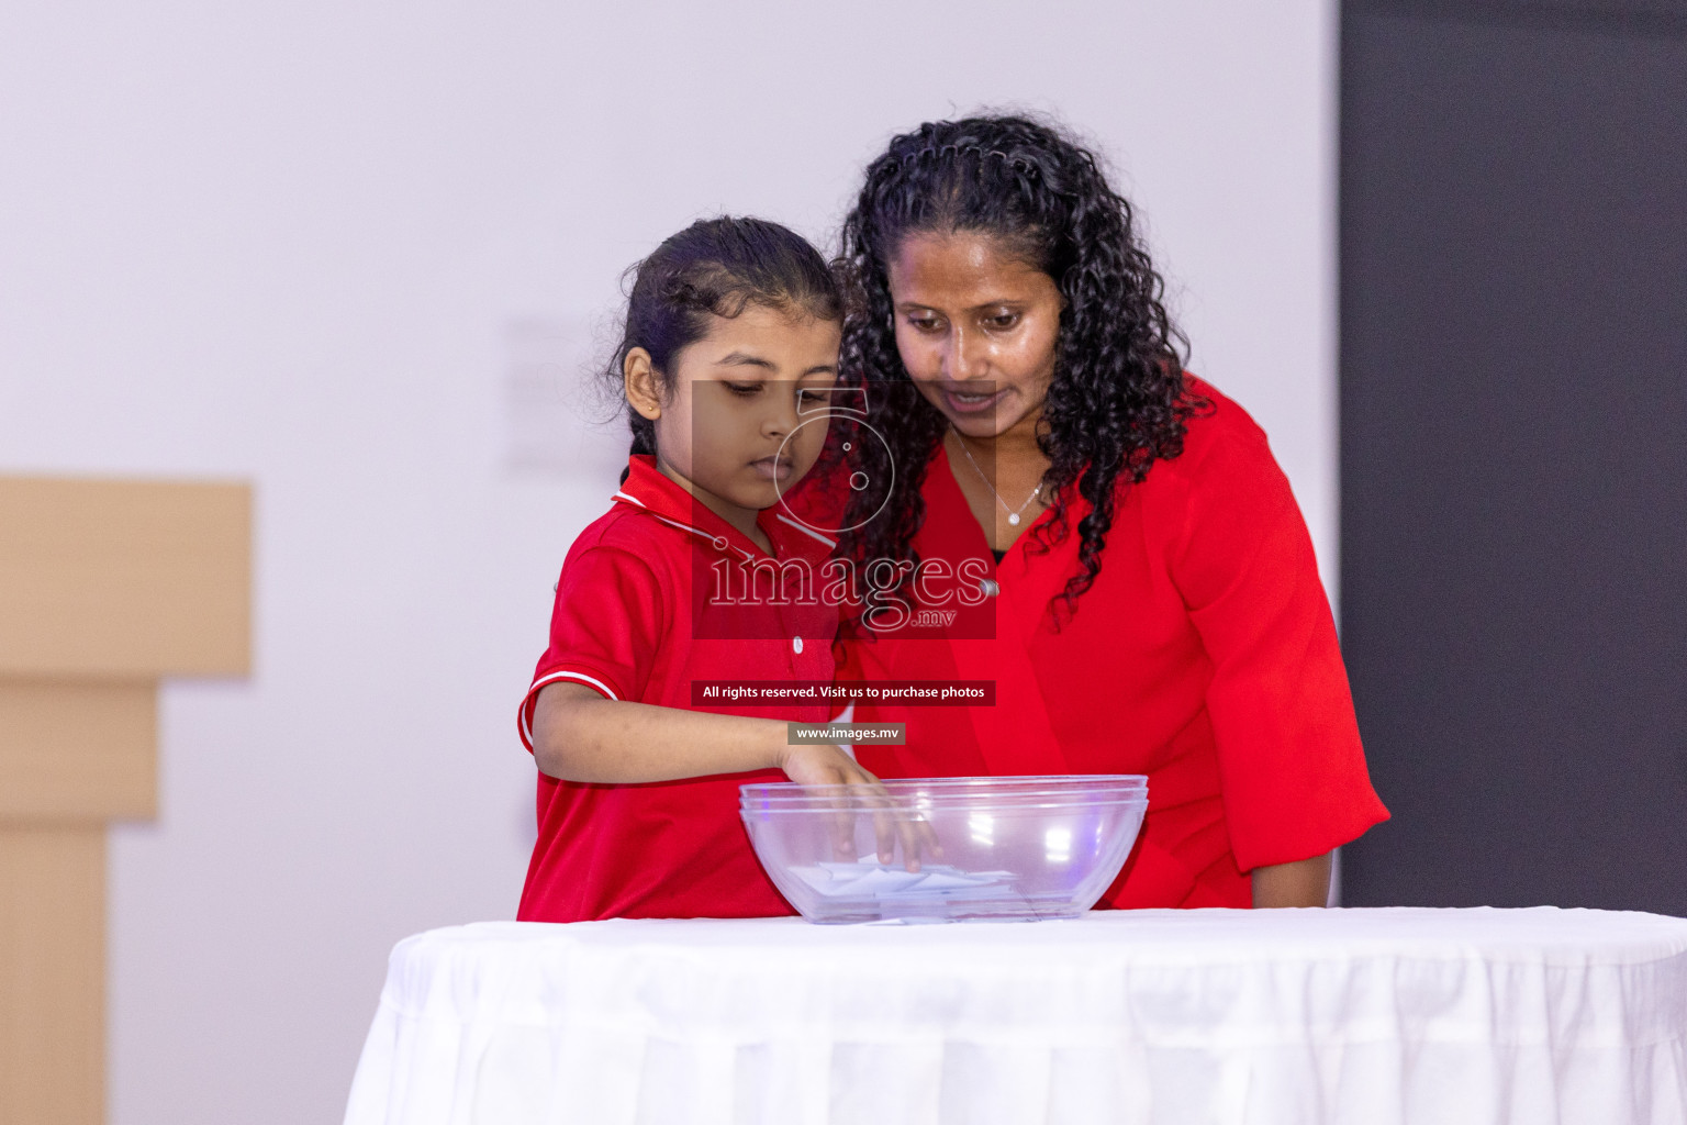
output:
M612 474L511 467L511 322L577 337L700 214L828 241L980 105L1112 159L1333 575L1331 0L0 8L0 472L258 498L255 673L167 690L111 843L113 1122L337 1120L391 943L515 911L513 708Z

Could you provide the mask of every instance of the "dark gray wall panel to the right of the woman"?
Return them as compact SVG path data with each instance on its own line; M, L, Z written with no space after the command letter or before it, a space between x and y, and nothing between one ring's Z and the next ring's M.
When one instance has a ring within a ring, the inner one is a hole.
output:
M1687 37L1350 7L1341 169L1345 901L1687 914Z

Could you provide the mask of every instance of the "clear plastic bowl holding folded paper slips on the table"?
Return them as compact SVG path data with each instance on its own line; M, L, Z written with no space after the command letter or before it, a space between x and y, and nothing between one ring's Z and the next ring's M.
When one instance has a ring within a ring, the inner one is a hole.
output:
M808 921L1027 921L1095 906L1142 828L1147 779L747 784L739 805L756 857Z

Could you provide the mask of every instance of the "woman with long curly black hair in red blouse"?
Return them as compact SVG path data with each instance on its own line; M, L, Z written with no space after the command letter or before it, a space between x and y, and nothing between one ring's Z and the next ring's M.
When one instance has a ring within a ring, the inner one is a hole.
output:
M842 265L840 385L870 410L849 671L995 685L857 707L906 724L862 764L1147 774L1102 906L1323 906L1329 852L1388 813L1289 482L1183 369L1130 204L1048 125L926 123L867 167Z

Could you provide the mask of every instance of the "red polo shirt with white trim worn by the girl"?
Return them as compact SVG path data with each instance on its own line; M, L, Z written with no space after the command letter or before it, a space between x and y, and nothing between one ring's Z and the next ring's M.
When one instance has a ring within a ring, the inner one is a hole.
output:
M818 568L832 543L763 511L773 557L634 455L609 513L569 548L557 584L550 648L521 703L533 749L533 702L557 681L611 700L823 722L811 707L693 707L693 680L830 681L837 609L805 597L795 570ZM763 570L756 572L756 563ZM727 589L719 582L737 584ZM749 580L763 597L751 602ZM774 580L790 580L773 597ZM730 602L727 599L732 599ZM602 918L761 918L791 914L751 850L739 784L783 781L778 771L651 784L579 784L538 778L538 842L521 891L523 921Z

